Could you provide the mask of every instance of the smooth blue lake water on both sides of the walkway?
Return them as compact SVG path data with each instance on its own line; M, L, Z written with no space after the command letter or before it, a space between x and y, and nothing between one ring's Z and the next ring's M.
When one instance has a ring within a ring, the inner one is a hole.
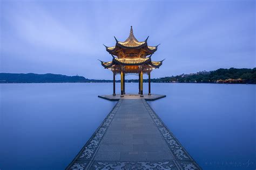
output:
M203 169L255 169L255 85L151 88L167 97L150 105ZM116 103L97 95L111 93L112 83L0 84L0 169L64 169Z

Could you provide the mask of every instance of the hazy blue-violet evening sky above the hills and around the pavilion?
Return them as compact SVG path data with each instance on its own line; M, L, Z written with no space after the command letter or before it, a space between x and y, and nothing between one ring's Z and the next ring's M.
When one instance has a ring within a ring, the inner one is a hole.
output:
M255 1L0 1L4 73L112 79L103 44L161 44L152 77L255 67ZM129 76L132 79L135 76Z

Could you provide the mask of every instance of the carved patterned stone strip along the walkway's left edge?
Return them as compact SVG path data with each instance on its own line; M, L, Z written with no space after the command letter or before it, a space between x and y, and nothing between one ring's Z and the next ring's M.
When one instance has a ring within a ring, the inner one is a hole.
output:
M102 124L100 124L99 128L93 133L92 137L87 141L84 145L82 150L78 153L76 158L71 162L71 164L66 169L86 169L102 141L104 134L106 133L107 129L110 126L110 123L113 120L114 115L116 114L117 110L119 109L122 100L119 100L117 104L113 107L109 115L106 116Z

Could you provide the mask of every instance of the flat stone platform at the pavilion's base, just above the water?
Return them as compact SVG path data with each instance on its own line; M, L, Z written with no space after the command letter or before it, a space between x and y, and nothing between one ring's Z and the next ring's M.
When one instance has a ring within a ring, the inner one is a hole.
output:
M151 95L143 95L143 97L140 97L139 94L124 94L124 97L120 97L120 94L117 94L116 96L113 95L100 95L98 96L100 98L104 98L109 101L119 101L120 98L122 99L142 99L144 98L146 101L154 101L158 100L159 98L166 97L166 95L157 95L157 94L151 94Z

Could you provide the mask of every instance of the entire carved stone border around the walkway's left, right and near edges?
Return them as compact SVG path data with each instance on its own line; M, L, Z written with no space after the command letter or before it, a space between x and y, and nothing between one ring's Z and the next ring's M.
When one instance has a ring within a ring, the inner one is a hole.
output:
M93 161L98 147L109 128L114 115L122 103L119 100L113 107L109 115L104 119L102 124L87 141L82 150L78 153L76 158L66 169L201 169L198 164L186 152L185 148L181 146L179 141L170 132L167 126L161 121L157 114L153 111L150 105L142 99L145 108L152 117L154 123L159 129L162 137L166 141L173 154L174 160L166 161Z

